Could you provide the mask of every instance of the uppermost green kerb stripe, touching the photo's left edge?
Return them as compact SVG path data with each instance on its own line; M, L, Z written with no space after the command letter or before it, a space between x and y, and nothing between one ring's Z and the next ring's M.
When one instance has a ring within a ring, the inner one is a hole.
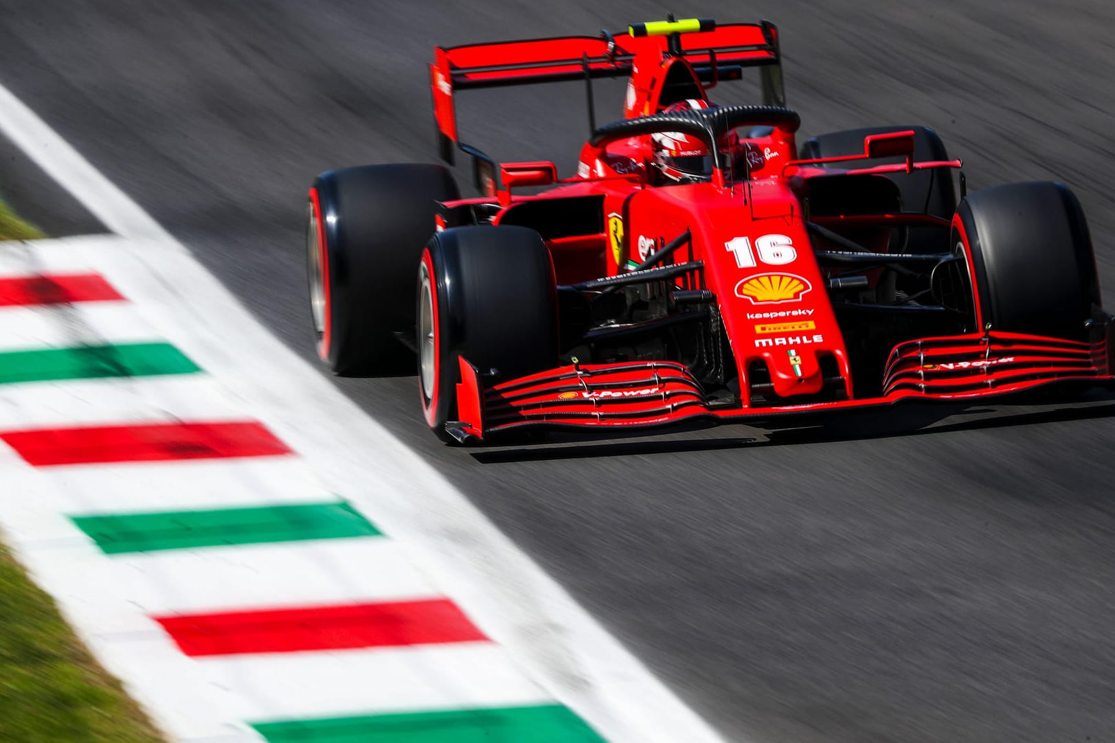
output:
M197 365L169 343L84 345L0 353L0 383L190 374Z

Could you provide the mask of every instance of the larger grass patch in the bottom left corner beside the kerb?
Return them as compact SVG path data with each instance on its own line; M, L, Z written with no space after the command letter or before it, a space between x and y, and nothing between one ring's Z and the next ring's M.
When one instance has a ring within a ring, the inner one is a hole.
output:
M0 544L0 742L161 740Z

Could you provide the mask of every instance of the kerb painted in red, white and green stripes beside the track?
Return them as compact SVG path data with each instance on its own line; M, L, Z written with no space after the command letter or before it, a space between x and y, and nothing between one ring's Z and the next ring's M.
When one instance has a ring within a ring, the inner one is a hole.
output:
M180 740L604 740L103 276L0 276L4 322L48 329L0 348L13 536L56 586L97 587L83 634L172 684L132 691ZM234 730L178 708L187 677Z

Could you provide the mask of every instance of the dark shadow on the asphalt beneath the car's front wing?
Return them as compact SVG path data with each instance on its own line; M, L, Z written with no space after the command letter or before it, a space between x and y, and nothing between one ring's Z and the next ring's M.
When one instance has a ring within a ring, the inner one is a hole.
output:
M1040 409L1035 410L1036 405ZM957 416L979 418L941 422ZM956 431L976 431L1015 426L1036 426L1115 416L1115 392L1095 391L1072 400L1027 399L1010 404L900 404L891 408L844 412L807 420L786 421L786 426L762 429L749 434L750 427L690 426L668 431L630 432L621 440L609 432L550 432L532 439L506 442L502 448L476 449L469 454L483 465L562 459L593 459L633 454L685 453L749 447L780 447L837 441L870 441L906 436L937 436ZM731 433L740 431L741 433ZM716 434L710 434L711 432ZM720 436L719 433L725 433ZM657 438L648 440L649 437ZM697 437L697 438L694 438ZM497 442L493 442L498 446Z

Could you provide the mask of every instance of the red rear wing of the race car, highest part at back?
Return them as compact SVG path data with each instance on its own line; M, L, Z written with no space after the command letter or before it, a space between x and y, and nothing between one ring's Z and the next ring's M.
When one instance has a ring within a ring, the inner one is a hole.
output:
M738 80L745 67L760 68L763 102L784 106L782 53L774 23L726 23L711 19L652 21L628 27L626 32L602 31L600 37L570 36L521 41L497 41L434 50L429 66L438 155L454 163L454 150L487 159L460 143L454 97L458 90L511 85L585 80L589 130L595 129L592 80L626 77L636 60L657 69L667 57L688 60L706 87L719 80ZM456 146L456 147L455 147Z

